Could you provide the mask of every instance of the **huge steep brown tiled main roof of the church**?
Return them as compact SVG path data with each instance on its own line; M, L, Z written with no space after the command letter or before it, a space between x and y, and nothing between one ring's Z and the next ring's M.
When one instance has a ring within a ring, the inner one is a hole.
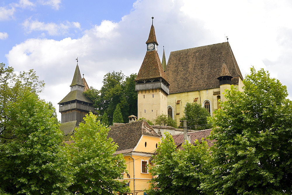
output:
M169 92L219 87L217 77L223 60L232 77L243 78L229 42L171 52L165 72L170 84Z

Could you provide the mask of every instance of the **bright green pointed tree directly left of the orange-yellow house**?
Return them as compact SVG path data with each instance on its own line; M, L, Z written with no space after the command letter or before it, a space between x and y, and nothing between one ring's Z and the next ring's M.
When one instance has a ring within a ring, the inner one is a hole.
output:
M129 188L116 180L126 169L122 154L113 155L117 144L107 138L109 131L90 112L73 137L74 145L68 146L75 169L74 182L69 187L73 194L112 194L126 192Z

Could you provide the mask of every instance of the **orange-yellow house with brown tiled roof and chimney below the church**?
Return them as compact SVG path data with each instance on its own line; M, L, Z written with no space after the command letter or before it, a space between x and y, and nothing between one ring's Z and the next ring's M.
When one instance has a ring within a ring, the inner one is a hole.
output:
M123 154L128 173L121 173L120 181L127 180L131 193L144 194L149 188L148 181L152 175L147 165L151 165L151 156L157 149L161 136L145 121L136 121L135 116L129 117L129 123L119 123L111 127L108 137L118 144L115 154Z

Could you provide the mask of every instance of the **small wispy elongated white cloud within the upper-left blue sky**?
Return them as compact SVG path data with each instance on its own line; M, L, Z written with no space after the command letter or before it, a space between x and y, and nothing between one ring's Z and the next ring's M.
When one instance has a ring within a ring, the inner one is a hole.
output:
M56 23L44 23L38 20L27 19L22 23L24 29L30 33L32 31L46 31L49 35L55 36L60 34L67 34L70 28L80 29L79 22L64 22L60 24Z

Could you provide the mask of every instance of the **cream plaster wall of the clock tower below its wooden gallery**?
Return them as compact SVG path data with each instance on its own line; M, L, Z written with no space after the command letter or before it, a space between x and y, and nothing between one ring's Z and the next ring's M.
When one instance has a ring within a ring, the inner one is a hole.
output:
M150 121L160 114L167 114L167 93L162 89L139 90L138 92L138 119Z

